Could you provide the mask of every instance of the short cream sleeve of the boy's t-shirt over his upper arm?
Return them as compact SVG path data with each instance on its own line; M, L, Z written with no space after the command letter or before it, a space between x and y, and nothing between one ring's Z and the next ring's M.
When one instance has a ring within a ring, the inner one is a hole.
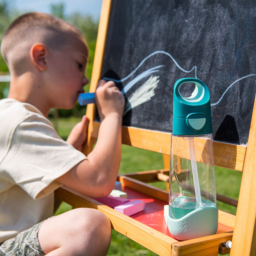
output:
M4 178L19 185L32 198L49 195L61 184L56 181L86 156L62 140L43 116L30 116L9 138L1 165Z

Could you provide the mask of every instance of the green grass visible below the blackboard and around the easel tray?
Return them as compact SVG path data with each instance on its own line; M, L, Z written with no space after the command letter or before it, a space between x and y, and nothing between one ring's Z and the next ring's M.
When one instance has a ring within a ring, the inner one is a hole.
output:
M68 137L72 127L79 122L77 118L59 119L58 133L64 139ZM122 145L122 159L119 174L129 172L139 172L146 170L155 170L163 168L162 155L160 153L133 148ZM215 179L217 193L238 199L241 185L242 172L236 172L229 169L215 167ZM152 183L151 183L152 184ZM165 189L165 183L154 183L156 186ZM236 207L217 201L217 207L220 210L236 214ZM62 203L57 214L71 209L71 206ZM148 255L153 256L155 253L135 243L131 239L112 230L112 241L108 251L108 256L123 255Z

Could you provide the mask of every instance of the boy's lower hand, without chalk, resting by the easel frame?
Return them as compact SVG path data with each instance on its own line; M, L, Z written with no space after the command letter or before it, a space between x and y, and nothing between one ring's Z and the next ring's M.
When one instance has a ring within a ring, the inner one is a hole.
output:
M72 129L67 139L69 144L81 152L83 150L85 140L87 139L88 124L88 117L83 116L82 120Z

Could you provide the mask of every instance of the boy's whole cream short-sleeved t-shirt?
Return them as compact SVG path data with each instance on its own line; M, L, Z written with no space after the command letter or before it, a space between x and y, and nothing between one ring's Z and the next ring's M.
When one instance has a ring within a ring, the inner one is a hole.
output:
M84 159L37 108L0 100L0 243L52 216L55 179Z

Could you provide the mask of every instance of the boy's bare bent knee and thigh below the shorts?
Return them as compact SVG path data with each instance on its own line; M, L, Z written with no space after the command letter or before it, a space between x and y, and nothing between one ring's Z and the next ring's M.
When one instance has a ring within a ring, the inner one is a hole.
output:
M111 240L108 217L95 209L78 208L43 222L38 241L47 256L106 255Z

